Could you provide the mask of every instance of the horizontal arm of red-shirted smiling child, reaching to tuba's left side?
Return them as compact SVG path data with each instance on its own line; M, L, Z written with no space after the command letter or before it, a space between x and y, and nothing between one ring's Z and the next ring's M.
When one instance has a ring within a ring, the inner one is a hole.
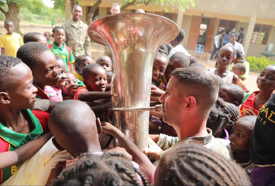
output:
M78 94L78 100L80 101L95 101L100 99L111 98L111 92L83 92Z

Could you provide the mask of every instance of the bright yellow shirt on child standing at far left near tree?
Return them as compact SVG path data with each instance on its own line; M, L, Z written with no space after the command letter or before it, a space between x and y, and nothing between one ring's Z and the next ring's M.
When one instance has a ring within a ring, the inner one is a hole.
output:
M23 45L23 39L20 34L3 34L0 39L1 48L5 48L5 55L16 57L17 50Z

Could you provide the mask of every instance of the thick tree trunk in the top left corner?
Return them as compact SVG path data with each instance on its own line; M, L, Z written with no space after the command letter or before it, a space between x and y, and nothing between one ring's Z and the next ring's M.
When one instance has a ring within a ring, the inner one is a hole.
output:
M15 26L15 29L14 31L17 32L18 34L21 34L22 35L22 32L20 31L20 19L19 19L19 10L20 10L20 7L14 3L14 2L11 2L11 3L7 3L8 7L9 7L9 11L8 12L2 12L5 14L5 18L6 20L12 20L13 23L14 23L14 26Z

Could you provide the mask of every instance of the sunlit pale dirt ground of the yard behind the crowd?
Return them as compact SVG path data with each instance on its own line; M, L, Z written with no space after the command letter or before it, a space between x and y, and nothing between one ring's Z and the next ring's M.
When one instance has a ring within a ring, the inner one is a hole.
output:
M62 23L61 23L62 25ZM60 25L60 26L61 26ZM38 24L28 24L26 22L20 22L20 30L23 34L26 34L28 32L50 32L52 33L52 26L51 25L38 25ZM6 33L6 30L4 28L4 21L0 21L0 33L4 34ZM53 38L51 38L53 40ZM188 52L191 55L195 55L195 51L189 51ZM97 43L92 43L92 57L95 59L99 58L101 55L104 54L104 47L102 45L99 45ZM203 53L202 59L200 59L200 56L196 56L198 59L198 62L203 64L207 69L212 68L215 65L215 61L210 60L210 53ZM259 73L255 72L249 72L249 78L246 80L247 88L250 91L256 91L258 90L256 80Z

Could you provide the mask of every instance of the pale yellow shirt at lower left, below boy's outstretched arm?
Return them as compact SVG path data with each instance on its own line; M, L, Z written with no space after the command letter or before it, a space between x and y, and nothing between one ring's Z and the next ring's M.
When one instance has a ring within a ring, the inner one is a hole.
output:
M51 170L68 158L73 157L66 150L59 151L50 139L2 185L46 185Z

